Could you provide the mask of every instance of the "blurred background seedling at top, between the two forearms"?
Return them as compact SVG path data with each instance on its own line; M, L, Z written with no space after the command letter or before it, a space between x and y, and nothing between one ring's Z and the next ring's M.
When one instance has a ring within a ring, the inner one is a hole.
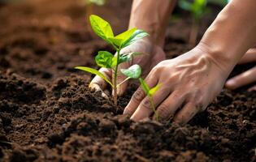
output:
M195 45L197 41L197 34L199 29L199 23L202 17L206 14L207 0L193 0L193 2L189 0L180 0L179 6L185 11L191 12L193 15L193 24L189 35L189 44Z

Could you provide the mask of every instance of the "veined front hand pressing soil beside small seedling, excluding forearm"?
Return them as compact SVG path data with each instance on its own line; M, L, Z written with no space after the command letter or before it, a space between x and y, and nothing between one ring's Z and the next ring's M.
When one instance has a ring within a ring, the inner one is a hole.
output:
M219 94L231 68L208 51L206 47L197 45L178 58L158 63L145 78L150 87L162 84L153 96L161 121L174 117L175 122L189 122ZM133 94L124 113L132 115L134 121L153 114L150 100L141 87Z

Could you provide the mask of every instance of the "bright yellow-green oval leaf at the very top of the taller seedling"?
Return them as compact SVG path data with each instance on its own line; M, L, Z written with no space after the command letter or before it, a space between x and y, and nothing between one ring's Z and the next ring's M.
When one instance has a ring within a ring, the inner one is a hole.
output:
M98 15L90 15L89 21L93 31L103 40L106 40L106 42L111 44L111 40L109 40L109 38L114 37L111 24L107 23L106 20L100 18Z

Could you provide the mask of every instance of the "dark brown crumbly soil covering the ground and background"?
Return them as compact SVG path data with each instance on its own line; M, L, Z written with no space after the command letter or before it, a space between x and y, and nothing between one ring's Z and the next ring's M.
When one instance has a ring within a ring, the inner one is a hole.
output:
M121 32L130 6L115 1L94 13ZM73 70L96 67L95 52L111 50L87 29L79 1L2 5L0 22L0 161L256 160L256 92L224 89L186 126L132 122L121 114L135 85L117 110L89 90L89 75ZM189 27L189 19L172 21L167 58L192 48Z

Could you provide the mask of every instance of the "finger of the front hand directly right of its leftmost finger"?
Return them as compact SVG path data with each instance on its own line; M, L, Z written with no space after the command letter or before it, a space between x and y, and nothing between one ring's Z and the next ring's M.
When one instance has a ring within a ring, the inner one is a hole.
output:
M153 103L150 103L150 98L147 96L139 104L136 111L132 114L131 119L133 121L139 121L145 117L150 117L154 113L155 108L163 102L170 94L170 89L168 87L160 87L158 92L152 96Z

